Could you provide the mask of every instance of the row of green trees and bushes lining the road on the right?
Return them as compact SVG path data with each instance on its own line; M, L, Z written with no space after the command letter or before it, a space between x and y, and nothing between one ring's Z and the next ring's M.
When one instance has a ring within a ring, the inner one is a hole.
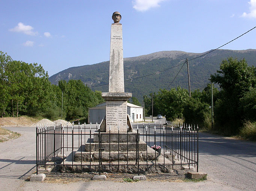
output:
M211 85L204 90L177 87L144 95L146 115L166 115L168 120L184 119L184 123L198 124L200 129L226 136L256 141L256 68L245 59L232 57L220 63L220 69L210 76L213 87L214 124L211 125Z

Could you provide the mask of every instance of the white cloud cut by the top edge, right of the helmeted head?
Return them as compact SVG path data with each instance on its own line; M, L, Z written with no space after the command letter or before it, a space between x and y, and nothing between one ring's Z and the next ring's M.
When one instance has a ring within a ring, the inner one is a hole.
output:
M160 7L159 3L162 1L165 0L134 0L132 3L134 9L143 12L150 8Z

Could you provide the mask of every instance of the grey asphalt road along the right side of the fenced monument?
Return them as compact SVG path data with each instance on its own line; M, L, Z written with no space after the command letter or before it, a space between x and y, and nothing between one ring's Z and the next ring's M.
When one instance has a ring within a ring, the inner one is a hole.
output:
M156 124L160 121L165 123L165 119L154 121ZM160 129L156 132L159 133ZM207 173L208 179L218 184L255 191L256 143L199 132L200 171Z

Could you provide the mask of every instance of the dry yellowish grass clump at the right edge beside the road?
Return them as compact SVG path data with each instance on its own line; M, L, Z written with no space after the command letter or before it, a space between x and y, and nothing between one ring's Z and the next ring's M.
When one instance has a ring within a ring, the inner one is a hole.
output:
M247 121L244 123L239 135L246 140L256 141L256 122Z

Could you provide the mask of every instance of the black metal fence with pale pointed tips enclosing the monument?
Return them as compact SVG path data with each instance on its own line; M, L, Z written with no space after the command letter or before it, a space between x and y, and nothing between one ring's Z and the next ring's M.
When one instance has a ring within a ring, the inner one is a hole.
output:
M37 126L37 173L39 168L50 165L62 172L99 174L104 171L139 174L157 169L168 172L174 166L193 167L198 172L198 126L170 121L164 125L137 123L133 124L133 137L128 128L127 132L120 132L119 128L118 132L111 132L109 128L108 133L97 132L98 128L97 123ZM158 146L160 150L156 149ZM65 160L60 162L60 159Z

